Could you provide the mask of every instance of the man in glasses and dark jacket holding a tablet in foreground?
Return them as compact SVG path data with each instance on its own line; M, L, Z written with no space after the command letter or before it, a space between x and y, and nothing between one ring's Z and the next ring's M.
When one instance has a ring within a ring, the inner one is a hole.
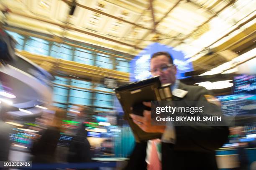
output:
M172 97L172 100L207 101L209 92L202 86L189 86L176 79L177 68L167 52L154 53L151 57L151 74L160 76L161 84L172 84L171 90L182 89L187 94ZM150 102L143 102L151 107ZM212 104L212 111L220 108ZM211 112L211 111L209 111ZM135 122L145 132L160 132L161 162L163 170L217 170L215 150L228 138L226 126L153 126L151 111L143 111L144 117L131 114Z

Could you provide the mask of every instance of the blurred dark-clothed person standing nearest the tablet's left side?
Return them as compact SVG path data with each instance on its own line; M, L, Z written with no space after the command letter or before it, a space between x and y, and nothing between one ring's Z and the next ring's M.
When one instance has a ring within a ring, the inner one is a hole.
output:
M85 130L84 122L87 121L87 111L90 108L79 106L76 108L79 127L75 130L74 137L69 146L68 162L90 162L91 161L91 145L87 139L87 130Z

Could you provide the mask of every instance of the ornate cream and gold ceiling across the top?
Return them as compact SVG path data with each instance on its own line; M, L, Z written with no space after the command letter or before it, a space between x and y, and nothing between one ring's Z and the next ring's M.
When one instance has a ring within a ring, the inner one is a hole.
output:
M153 23L149 0L76 0L74 15L68 15L72 0L1 2L1 9L7 6L11 10L7 23L19 28L67 36L58 26L67 24L71 26L66 30L71 39L111 49L120 46L122 52L133 49L136 53L139 51L135 48L145 48L159 37L159 42L184 51L186 57L209 44L214 46L218 38L246 22L256 6L255 0L153 0ZM102 38L90 36L92 33Z

